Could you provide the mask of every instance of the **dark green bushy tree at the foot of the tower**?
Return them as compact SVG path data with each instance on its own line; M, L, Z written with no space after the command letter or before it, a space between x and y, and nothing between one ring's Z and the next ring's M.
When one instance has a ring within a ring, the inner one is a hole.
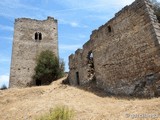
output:
M64 75L64 62L59 62L53 52L49 50L42 51L37 57L37 65L34 70L33 79L36 84L37 81L39 82L37 85L50 84Z

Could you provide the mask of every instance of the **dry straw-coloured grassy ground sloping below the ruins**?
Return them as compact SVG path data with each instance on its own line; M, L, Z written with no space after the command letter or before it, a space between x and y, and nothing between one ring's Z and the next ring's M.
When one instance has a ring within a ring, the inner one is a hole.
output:
M0 90L0 120L35 120L58 105L75 111L75 120L160 120L160 98L130 99L97 95L62 85Z

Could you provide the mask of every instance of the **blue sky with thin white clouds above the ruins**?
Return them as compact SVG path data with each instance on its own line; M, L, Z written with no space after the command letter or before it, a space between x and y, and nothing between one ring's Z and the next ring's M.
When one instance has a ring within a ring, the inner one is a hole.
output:
M82 48L93 30L134 0L1 0L0 1L0 87L8 86L16 18L58 20L59 56L68 69L68 56Z

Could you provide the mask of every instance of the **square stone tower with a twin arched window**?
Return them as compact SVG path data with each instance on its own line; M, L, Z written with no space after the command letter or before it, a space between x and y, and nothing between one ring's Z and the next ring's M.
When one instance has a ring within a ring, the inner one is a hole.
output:
M9 87L36 85L32 76L36 57L50 50L58 57L57 20L19 18L15 20Z

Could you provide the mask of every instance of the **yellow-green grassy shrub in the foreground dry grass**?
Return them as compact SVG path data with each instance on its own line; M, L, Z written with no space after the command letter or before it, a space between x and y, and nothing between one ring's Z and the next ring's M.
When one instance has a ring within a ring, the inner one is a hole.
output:
M50 110L49 114L40 117L37 120L73 120L74 111L67 106L57 106Z

